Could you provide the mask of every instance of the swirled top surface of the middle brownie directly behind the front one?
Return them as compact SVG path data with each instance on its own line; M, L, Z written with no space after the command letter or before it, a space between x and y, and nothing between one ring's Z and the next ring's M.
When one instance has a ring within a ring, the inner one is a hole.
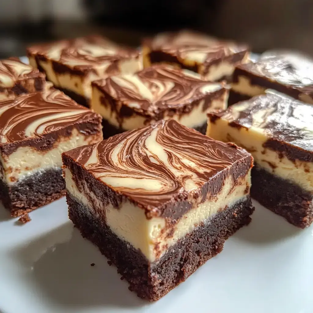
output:
M126 105L148 115L191 104L225 87L167 65L154 65L136 74L113 76L93 84L119 102L115 109Z

